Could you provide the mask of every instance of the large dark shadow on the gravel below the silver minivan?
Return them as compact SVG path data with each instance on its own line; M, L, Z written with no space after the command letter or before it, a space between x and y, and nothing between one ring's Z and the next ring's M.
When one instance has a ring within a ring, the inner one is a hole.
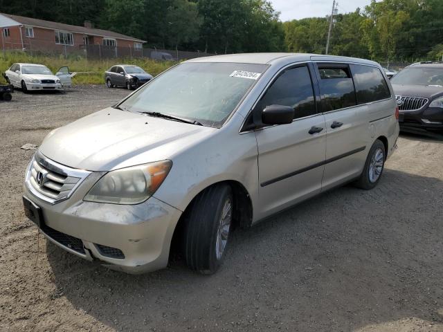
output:
M237 230L212 276L181 260L126 275L49 241L47 256L57 294L116 330L355 331L409 317L440 324L442 194L437 178L386 169L374 190L340 187Z

